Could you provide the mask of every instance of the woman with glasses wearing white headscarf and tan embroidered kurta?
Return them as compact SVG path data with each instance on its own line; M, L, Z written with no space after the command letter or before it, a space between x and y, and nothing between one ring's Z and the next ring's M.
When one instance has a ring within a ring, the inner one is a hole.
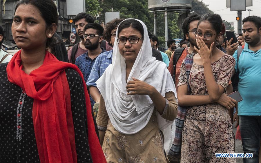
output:
M96 122L106 160L169 162L177 116L171 75L152 57L142 21L122 21L115 39L112 64L96 82L101 92Z

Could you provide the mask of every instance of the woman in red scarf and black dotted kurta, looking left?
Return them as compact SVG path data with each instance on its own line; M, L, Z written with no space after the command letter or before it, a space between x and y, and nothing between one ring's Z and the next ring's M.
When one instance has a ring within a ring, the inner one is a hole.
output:
M17 3L21 50L0 65L1 162L106 162L80 70L46 50L57 24L52 0Z

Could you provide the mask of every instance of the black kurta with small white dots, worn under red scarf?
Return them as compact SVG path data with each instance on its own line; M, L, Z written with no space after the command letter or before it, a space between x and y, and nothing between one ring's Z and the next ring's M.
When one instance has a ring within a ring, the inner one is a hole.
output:
M0 162L40 162L32 120L34 99L8 81L7 64L0 64ZM77 160L92 162L82 79L73 69L65 72L70 88Z

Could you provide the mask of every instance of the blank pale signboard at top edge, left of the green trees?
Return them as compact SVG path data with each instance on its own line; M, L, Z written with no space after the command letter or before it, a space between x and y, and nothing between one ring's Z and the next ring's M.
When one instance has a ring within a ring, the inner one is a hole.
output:
M85 0L66 0L67 16L77 15L80 12L85 12Z

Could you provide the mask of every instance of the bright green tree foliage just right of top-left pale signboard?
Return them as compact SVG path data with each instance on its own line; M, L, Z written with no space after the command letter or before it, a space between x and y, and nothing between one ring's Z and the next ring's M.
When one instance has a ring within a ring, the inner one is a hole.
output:
M85 0L85 8L86 13L92 15L96 20L102 12L98 0Z

